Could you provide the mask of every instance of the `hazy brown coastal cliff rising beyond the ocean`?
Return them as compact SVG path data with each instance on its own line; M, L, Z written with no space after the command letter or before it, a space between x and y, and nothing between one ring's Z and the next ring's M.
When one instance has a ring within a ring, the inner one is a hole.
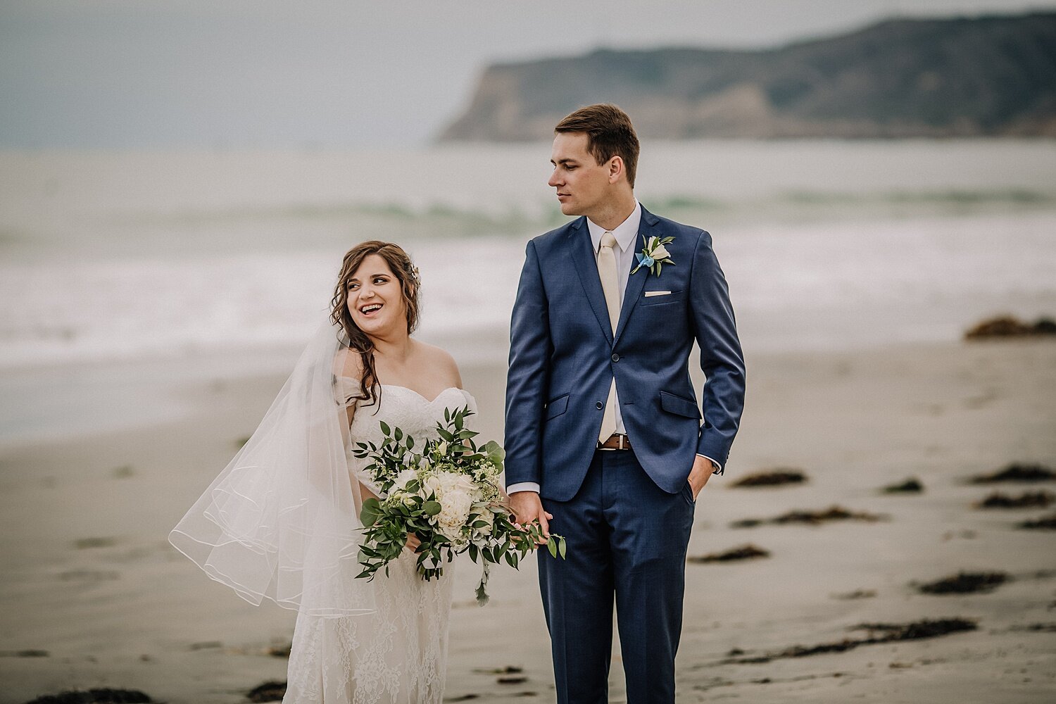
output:
M666 139L1056 136L1056 13L890 20L766 51L496 64L439 140L546 139L591 102Z

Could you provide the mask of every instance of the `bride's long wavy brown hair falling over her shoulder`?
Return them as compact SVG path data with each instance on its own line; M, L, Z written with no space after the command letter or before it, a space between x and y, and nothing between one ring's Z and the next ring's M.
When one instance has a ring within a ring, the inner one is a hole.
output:
M411 258L399 245L391 242L372 240L362 242L347 251L341 263L341 273L337 277L334 287L334 299L331 301L331 320L340 325L348 336L348 347L359 353L363 365L363 376L359 380L359 393L356 398L369 401L373 405L378 398L376 387L378 375L374 367L374 341L363 332L352 320L348 312L348 280L356 273L360 265L371 254L377 254L385 261L393 274L400 283L400 293L407 307L407 332L410 335L418 327L418 270L411 263Z

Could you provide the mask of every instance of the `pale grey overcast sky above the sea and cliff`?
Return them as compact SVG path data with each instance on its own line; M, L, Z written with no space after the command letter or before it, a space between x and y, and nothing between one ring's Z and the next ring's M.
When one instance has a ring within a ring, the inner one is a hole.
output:
M495 61L754 49L1056 0L0 0L0 148L426 144Z

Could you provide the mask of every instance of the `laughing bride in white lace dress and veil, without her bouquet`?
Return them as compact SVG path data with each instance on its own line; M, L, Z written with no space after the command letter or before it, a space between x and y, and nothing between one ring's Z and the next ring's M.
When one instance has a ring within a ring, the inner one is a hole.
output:
M356 578L359 510L380 491L350 449L380 443L380 421L426 440L445 408L475 411L451 356L411 337L419 288L399 246L350 250L329 320L257 432L169 535L243 598L298 611L284 703L444 696L451 565L421 579L411 536L388 575Z

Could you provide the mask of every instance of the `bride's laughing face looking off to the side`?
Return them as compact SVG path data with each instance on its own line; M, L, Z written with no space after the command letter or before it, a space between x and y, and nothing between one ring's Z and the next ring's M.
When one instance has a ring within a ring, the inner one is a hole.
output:
M407 332L402 287L384 259L367 255L345 285L348 315L359 329L372 337Z

